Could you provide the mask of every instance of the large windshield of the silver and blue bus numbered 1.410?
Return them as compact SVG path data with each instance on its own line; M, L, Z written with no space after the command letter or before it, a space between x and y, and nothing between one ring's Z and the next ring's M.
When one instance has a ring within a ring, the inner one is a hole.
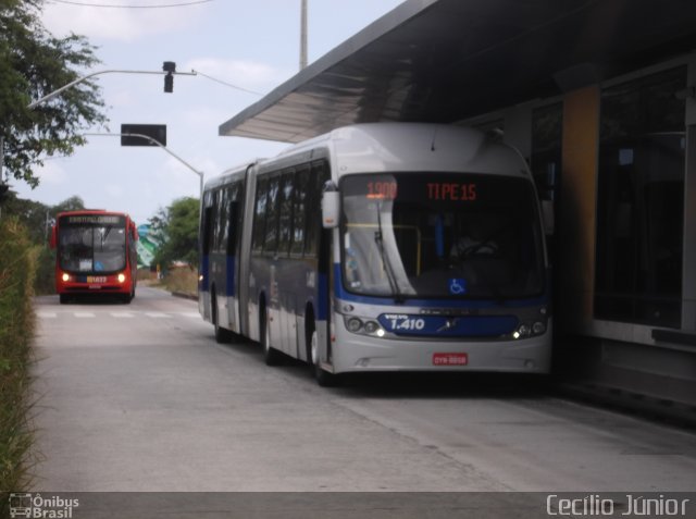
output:
M532 183L482 174L343 178L346 291L378 297L524 298L544 289Z

